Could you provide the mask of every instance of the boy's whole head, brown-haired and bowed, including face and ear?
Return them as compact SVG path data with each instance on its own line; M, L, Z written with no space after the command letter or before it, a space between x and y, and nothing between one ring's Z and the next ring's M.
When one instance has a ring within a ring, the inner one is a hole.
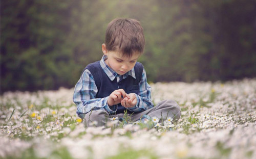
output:
M135 19L117 18L106 29L103 54L105 61L118 74L125 74L136 64L143 54L145 39L143 28Z

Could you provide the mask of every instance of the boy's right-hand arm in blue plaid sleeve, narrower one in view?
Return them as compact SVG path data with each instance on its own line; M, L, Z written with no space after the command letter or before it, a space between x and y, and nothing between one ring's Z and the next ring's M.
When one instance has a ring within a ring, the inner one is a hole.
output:
M137 104L133 108L127 108L131 112L139 113L154 107L151 100L151 87L146 81L146 71L143 69L142 78L139 83L139 93L136 94Z

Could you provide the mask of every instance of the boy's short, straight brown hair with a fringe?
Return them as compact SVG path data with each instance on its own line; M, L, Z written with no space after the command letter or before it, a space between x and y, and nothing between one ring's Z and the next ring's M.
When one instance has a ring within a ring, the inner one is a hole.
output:
M145 39L140 22L135 19L116 18L106 28L106 49L121 51L122 56L131 57L134 52L143 53Z

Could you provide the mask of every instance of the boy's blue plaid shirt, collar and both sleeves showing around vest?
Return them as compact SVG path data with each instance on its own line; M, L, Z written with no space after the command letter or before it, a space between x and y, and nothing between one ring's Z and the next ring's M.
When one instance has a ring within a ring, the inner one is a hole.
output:
M134 68L123 75L119 75L108 65L105 64L106 59L107 57L103 55L102 59L100 60L100 66L102 67L106 75L108 75L111 81L117 78L117 82L119 82L129 75L136 78ZM143 112L154 107L151 100L151 87L147 84L146 81L145 69L143 69L142 72L142 78L139 83L139 88L139 93L136 94L137 104L133 108L128 108L128 110L134 113ZM116 110L113 111L112 109L110 109L108 105L107 101L109 96L104 98L96 98L97 92L98 89L91 72L88 69L84 70L75 86L73 96L73 101L77 105L76 113L80 118L84 118L85 114L92 110L104 110L109 114L114 114L116 112Z

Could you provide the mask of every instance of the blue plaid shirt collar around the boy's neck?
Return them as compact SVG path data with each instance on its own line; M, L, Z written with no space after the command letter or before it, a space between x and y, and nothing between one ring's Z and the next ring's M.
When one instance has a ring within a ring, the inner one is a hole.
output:
M133 78L136 79L134 68L132 70L126 72L123 75L119 75L112 68L110 68L108 65L106 65L106 63L105 63L106 59L108 59L108 57L106 55L103 55L100 60L100 66L103 69L103 71L106 73L106 75L108 75L108 77L110 78L111 81L113 81L116 78L116 76L122 76L122 78L124 79L128 75L131 75Z

